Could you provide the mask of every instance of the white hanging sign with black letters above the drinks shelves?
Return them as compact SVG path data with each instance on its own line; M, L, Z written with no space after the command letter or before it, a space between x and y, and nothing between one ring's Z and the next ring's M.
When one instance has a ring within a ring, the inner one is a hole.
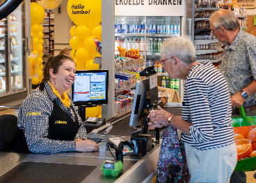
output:
M184 16L185 0L114 0L116 16Z

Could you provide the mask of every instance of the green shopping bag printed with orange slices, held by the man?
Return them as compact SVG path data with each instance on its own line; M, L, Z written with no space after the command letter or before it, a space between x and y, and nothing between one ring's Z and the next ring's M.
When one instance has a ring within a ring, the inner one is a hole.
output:
M256 116L246 116L243 106L240 117L232 118L234 140L237 146L237 171L256 170Z

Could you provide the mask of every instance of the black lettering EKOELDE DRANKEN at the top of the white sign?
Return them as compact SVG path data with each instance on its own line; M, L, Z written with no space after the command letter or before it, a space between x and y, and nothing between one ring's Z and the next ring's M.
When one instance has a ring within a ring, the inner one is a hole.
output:
M115 0L115 5L144 5L145 0ZM182 0L147 0L148 5L182 5Z

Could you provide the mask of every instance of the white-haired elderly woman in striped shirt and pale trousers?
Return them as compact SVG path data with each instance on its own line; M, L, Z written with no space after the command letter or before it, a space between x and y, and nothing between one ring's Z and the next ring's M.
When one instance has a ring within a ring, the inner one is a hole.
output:
M150 125L182 131L190 182L229 182L237 164L230 92L211 62L195 62L195 47L185 37L161 45L161 64L169 78L185 80L182 116L161 107L148 116Z

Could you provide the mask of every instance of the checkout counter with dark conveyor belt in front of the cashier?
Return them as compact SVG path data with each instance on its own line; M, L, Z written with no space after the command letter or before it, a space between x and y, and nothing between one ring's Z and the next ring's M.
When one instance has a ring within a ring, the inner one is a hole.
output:
M181 115L181 107L165 107L175 115ZM123 157L124 168L118 177L104 176L100 167L106 159L113 159L107 146L108 138L120 137L129 141L134 128L129 127L129 116L113 124L109 134L104 130L88 137L102 138L100 150L89 153L56 153L51 155L33 153L0 152L1 182L150 182L156 175L161 141L144 157L127 155ZM154 130L149 131L149 133ZM111 148L115 155L115 150Z

